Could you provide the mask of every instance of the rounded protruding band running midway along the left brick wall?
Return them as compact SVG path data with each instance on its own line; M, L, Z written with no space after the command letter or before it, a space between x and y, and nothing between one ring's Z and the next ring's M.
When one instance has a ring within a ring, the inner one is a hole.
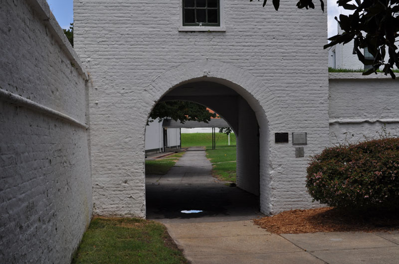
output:
M13 104L16 104L19 106L23 106L23 107L29 108L33 111L44 113L44 114L47 114L47 115L55 117L55 118L60 118L62 120L65 120L71 124L82 127L84 129L89 128L88 125L79 122L78 120L70 117L69 115L63 114L63 113L58 112L54 109L51 109L47 106L38 104L32 100L26 99L22 96L16 95L12 92L9 92L9 91L3 90L3 89L0 89L0 100L6 101L9 103L13 103Z

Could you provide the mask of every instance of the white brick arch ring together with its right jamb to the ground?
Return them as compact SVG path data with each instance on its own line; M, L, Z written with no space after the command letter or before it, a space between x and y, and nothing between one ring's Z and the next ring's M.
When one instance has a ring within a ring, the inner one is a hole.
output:
M273 210L271 189L270 131L278 124L281 107L277 97L262 81L248 70L216 60L201 60L181 64L161 75L146 88L149 104L148 116L156 103L169 91L183 84L210 81L235 90L255 112L260 132L260 207L263 213Z

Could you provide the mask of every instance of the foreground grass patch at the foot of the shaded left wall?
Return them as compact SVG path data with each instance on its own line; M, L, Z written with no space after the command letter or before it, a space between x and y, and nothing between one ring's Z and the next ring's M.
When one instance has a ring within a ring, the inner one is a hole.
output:
M166 231L154 221L95 217L73 257L80 263L188 263Z

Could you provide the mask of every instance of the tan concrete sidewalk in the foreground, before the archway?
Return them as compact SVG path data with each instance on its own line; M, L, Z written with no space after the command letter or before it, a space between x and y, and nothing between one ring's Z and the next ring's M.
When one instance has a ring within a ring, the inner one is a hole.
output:
M250 220L165 225L193 264L399 263L399 232L279 236Z

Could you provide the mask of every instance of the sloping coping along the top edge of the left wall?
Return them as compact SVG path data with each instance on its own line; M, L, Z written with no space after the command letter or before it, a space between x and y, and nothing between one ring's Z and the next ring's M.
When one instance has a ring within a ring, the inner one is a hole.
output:
M54 36L54 39L60 45L62 51L68 56L69 60L73 64L78 73L84 78L84 80L88 80L88 74L83 67L82 62L79 59L79 56L76 54L75 50L73 49L72 45L69 43L67 37L62 31L62 28L58 24L57 20L55 19L54 15L50 11L50 7L47 4L46 0L26 0L26 2L32 6L38 16L43 19L43 23L48 26L50 33Z

